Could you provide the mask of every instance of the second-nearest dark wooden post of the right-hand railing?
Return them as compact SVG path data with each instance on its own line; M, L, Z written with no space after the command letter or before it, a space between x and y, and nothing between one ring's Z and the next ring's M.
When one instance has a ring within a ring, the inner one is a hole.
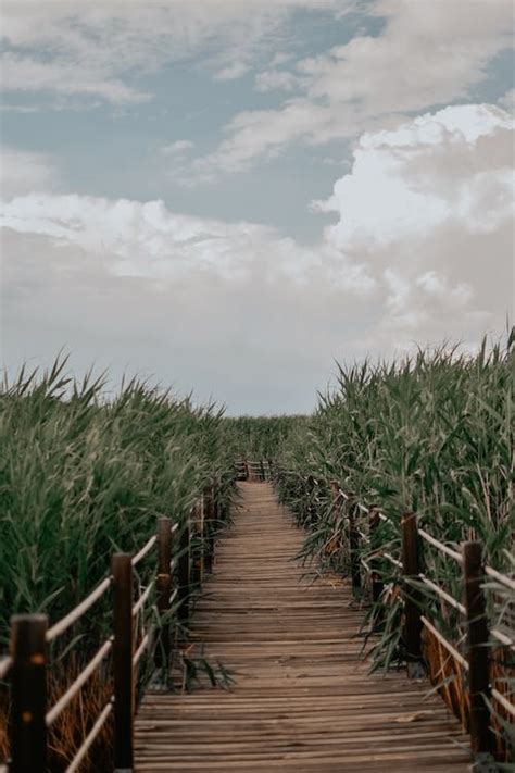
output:
M418 528L415 513L405 513L402 526L402 565L404 574L404 644L406 647L407 675L420 675L422 620L420 594L410 585L420 572Z

